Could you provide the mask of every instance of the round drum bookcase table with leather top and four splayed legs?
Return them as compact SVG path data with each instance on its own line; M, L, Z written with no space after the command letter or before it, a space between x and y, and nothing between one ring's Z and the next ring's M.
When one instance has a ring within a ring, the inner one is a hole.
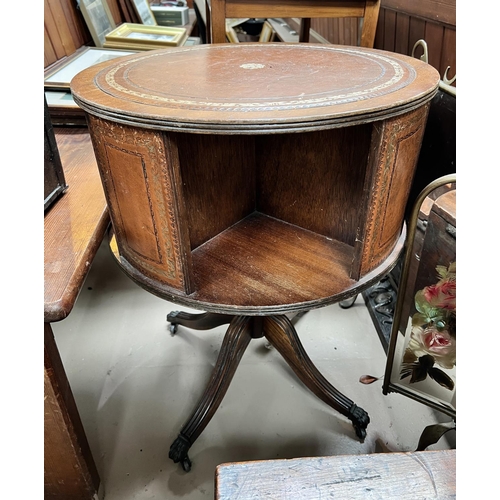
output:
M149 292L229 324L212 379L170 450L187 450L251 338L265 336L363 438L369 417L317 371L286 316L386 274L439 74L408 56L286 43L155 50L71 82L110 211L111 248Z

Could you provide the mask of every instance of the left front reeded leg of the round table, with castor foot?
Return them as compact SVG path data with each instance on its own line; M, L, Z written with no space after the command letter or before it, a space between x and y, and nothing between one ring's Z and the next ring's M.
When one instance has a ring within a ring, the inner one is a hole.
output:
M224 398L240 359L252 339L252 333L251 317L235 316L233 318L222 341L219 357L205 392L170 447L169 458L175 463L181 462L186 472L191 469L191 461L187 452L210 422Z

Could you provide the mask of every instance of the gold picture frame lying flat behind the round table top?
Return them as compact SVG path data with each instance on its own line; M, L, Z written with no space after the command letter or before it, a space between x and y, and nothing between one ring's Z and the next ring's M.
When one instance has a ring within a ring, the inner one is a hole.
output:
M124 23L106 35L104 47L152 50L179 47L186 39L186 28Z

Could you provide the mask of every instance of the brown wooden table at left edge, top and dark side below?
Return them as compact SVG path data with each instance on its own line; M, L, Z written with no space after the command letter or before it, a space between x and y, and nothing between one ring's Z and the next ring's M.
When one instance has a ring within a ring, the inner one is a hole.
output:
M109 216L88 131L55 136L69 188L44 217L44 498L95 500L100 478L49 323L72 310Z

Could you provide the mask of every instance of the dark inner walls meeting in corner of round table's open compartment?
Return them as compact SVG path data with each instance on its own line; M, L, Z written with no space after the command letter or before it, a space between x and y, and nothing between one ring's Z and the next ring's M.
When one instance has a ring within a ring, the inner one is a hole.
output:
M254 212L353 247L371 129L177 134L191 250Z

